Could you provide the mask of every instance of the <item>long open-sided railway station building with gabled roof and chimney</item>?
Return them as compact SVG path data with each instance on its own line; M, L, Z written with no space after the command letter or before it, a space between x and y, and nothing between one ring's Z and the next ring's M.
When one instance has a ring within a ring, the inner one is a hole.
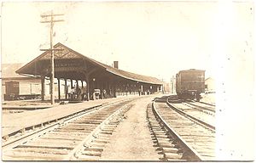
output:
M55 44L54 48L59 49L54 53L56 98L59 100L115 98L119 95L157 93L162 89L163 82L159 79L119 70L117 61L112 67L61 43ZM48 95L45 82L50 77L50 57L51 53L46 51L16 70L19 75L40 79L42 100Z

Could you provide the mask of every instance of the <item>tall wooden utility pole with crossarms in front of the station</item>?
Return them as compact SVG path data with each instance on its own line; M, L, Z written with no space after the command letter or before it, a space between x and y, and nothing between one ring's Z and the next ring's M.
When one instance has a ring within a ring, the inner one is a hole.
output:
M55 16L62 16L64 14L53 14L53 11L51 10L50 14L42 14L42 18L49 18L50 20L44 20L41 21L41 23L49 23L49 49L40 49L41 51L49 51L50 52L50 101L51 104L55 104L55 96L54 96L54 79L55 79L55 55L54 51L55 50L60 50L60 49L54 49L53 48L53 26L55 22L61 22L64 20L55 20Z

